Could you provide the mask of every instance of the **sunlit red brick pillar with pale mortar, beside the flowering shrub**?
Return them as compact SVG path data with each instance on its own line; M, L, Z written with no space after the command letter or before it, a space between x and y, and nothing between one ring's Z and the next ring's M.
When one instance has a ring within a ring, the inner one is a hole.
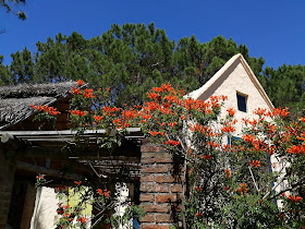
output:
M172 155L143 141L141 168L141 206L146 216L142 229L169 229L181 226L182 171Z

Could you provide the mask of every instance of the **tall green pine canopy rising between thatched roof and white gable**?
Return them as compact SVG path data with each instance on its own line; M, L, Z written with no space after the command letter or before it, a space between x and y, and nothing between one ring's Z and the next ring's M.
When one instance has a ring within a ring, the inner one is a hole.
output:
M215 37L202 44L193 35L178 43L154 23L113 24L101 36L85 39L70 36L36 44L12 55L11 74L15 83L42 83L82 79L96 88L111 88L111 103L122 106L143 103L154 86L171 82L186 93L204 85L232 56L241 52L258 74L264 60L249 58L246 46L231 38Z

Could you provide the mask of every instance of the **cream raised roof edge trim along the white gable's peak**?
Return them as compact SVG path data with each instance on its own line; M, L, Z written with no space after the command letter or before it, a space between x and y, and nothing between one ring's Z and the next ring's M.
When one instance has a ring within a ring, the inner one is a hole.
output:
M244 57L241 53L237 53L233 56L207 83L205 83L200 88L190 93L190 97L194 99L198 99L200 95L203 95L209 87L211 87L221 76L224 75L224 73L230 69L232 64L234 64L236 61L240 61L242 65L244 67L246 73L248 74L251 81L255 85L255 87L258 89L260 96L264 98L270 110L274 109L274 106L272 105L271 100L267 96L266 92L264 91L263 86L258 82L257 77L255 76L254 72L249 68L248 63L244 59Z

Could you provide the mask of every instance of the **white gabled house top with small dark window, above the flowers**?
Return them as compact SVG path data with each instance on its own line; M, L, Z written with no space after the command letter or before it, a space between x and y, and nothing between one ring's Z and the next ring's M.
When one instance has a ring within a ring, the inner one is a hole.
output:
M273 110L274 107L255 74L242 55L232 57L205 85L192 92L194 99L206 100L210 96L228 96L222 111L228 108L236 110L235 118L255 118L253 111L257 108ZM225 112L222 112L222 117ZM236 123L236 134L240 134L242 123Z

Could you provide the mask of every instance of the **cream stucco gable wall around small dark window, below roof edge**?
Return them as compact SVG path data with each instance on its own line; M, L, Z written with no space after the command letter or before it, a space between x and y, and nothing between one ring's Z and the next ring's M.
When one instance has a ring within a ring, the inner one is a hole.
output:
M247 112L243 112L237 109L236 92L247 95ZM228 96L228 100L225 100L224 107L221 111L222 118L224 118L228 113L225 111L228 108L234 108L236 110L235 118L239 120L239 122L235 125L235 135L241 133L242 118L253 119L255 117L253 114L253 110L255 110L256 108L270 110L270 107L263 98L261 94L255 86L254 82L249 77L243 63L240 60L231 64L227 69L227 71L198 97L198 99L206 100L210 96L219 95Z

